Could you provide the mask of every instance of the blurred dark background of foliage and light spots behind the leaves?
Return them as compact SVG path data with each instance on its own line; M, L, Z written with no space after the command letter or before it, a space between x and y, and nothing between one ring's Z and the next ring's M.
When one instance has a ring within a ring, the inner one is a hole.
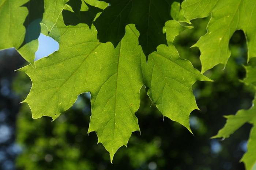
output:
M194 28L174 41L181 58L190 60L199 71L200 51L190 47L206 33L209 19L192 20ZM245 78L243 65L247 65L242 31L234 33L229 47L232 53L225 69L218 65L205 72L215 82L193 85L200 108L191 112L193 135L180 124L163 120L142 88L141 106L136 112L141 133L132 133L128 148L117 151L113 164L102 144L97 144L97 135L87 134L90 94L79 95L74 106L53 122L49 117L32 119L29 106L19 104L29 93L31 81L24 72L14 71L27 63L13 48L0 51L0 169L244 170L239 161L246 151L250 124L230 138L210 139L224 126L223 115L250 108L254 96L253 88L240 81ZM42 42L39 48L49 50Z

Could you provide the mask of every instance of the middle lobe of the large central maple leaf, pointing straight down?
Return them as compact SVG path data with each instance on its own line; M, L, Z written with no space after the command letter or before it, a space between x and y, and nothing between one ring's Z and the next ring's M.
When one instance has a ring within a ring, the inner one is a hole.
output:
M125 36L115 50L107 51L104 56L112 60L108 67L104 67L106 61L99 54L101 70L106 69L110 76L91 99L92 115L88 132L97 132L98 142L109 151L111 162L117 149L127 145L131 132L139 131L135 112L140 105L139 91L143 85L141 48L131 27L135 28L134 25L127 26Z

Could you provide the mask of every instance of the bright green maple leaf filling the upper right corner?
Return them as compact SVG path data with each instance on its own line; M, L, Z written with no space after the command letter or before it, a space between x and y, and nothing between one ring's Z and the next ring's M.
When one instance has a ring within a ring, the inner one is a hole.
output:
M207 12L202 16L190 15L193 10L204 8L202 2L206 3ZM230 57L229 40L233 33L242 29L245 32L248 43L248 61L256 56L256 37L253 28L256 27L256 1L250 0L227 0L227 1L199 1L187 0L182 7L185 8L185 16L188 18L204 17L211 10L212 18L208 23L206 35L200 37L199 41L192 47L199 47L201 51L202 72L216 66L219 63L226 65ZM216 3L214 5L214 3ZM188 6L186 6L189 4ZM193 9L192 4L197 4ZM225 10L223 10L225 9Z

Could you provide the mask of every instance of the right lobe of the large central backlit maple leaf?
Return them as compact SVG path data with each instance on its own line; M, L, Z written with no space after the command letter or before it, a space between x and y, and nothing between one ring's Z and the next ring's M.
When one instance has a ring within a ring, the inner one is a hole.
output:
M198 109L191 86L197 80L210 79L193 68L191 62L181 59L173 45L160 45L157 52L149 55L143 76L148 87L147 94L163 116L182 124L191 132L189 114Z

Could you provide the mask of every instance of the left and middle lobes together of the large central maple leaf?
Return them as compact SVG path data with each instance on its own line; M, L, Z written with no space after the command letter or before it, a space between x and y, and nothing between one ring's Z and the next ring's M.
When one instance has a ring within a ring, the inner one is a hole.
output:
M90 30L86 24L66 27L63 20L50 35L56 32L61 35L59 51L35 62L35 69L30 65L20 69L33 82L24 102L29 103L33 118L51 116L54 120L74 104L79 94L90 91L89 132L97 132L98 142L112 160L116 150L127 145L132 131L139 130L135 112L143 79L141 49L135 50L139 48L138 39L129 31L128 38L114 48L111 43L98 42L95 28ZM86 36L81 39L83 34Z

